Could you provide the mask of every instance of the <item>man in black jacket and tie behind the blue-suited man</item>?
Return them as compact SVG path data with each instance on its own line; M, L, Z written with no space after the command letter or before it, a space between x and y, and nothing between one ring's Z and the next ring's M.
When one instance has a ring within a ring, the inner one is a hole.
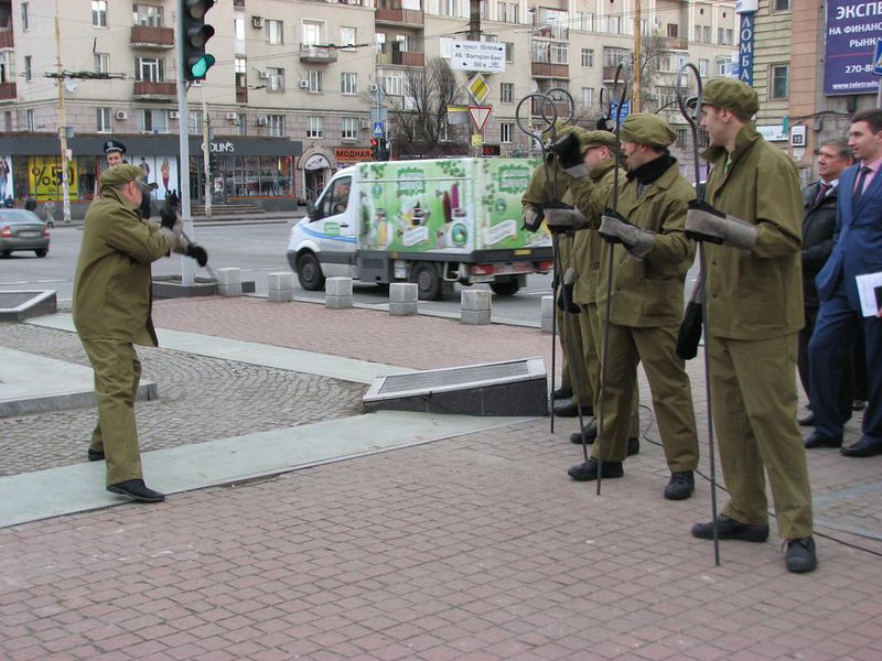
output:
M839 175L854 162L851 148L845 140L827 140L818 150L818 181L803 188L803 302L806 325L799 330L799 353L797 367L799 381L807 395L810 395L808 379L808 340L815 330L818 318L818 290L815 277L820 272L833 248L836 231L836 207L839 201ZM861 360L863 360L861 344ZM851 418L851 370L842 370L842 387L839 390L839 411L842 420ZM802 425L814 425L815 415L809 413L799 419ZM837 444L838 445L838 444ZM807 447L820 447L808 445Z

